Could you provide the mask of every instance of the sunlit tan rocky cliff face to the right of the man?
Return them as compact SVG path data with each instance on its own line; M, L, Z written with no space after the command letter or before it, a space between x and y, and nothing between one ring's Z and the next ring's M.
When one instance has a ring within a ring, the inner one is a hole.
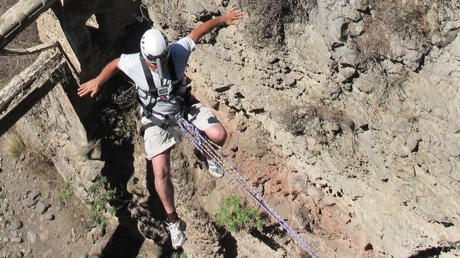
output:
M267 196L287 195L294 217L311 210L307 239L326 256L404 257L460 237L458 6L387 4L318 1L309 22L284 24L282 48L251 47L256 24L246 16L205 38L189 62L196 91L216 113L229 110L219 118L241 170L268 173L264 190L279 183L281 192ZM185 8L198 17L229 9ZM391 24L404 15L421 24ZM235 140L252 139L251 126L269 132L269 143L254 140L285 160L283 176L242 165L267 156Z

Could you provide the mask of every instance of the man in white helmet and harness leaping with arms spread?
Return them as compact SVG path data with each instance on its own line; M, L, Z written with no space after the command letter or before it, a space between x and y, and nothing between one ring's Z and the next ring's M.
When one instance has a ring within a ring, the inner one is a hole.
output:
M141 53L122 54L107 64L99 76L79 87L80 97L96 96L101 86L119 70L136 84L142 111L142 128L146 158L151 160L155 175L155 189L166 210L168 227L174 249L186 241L186 223L179 218L174 205L174 188L170 177L170 151L176 143L170 124L186 109L187 118L206 136L222 145L226 131L214 114L193 98L185 85L184 71L195 44L206 33L219 26L236 24L243 18L241 11L231 9L226 14L206 21L189 35L170 44L157 29L149 29L141 38ZM184 108L185 106L185 108ZM224 176L224 170L213 160L208 169L215 177Z

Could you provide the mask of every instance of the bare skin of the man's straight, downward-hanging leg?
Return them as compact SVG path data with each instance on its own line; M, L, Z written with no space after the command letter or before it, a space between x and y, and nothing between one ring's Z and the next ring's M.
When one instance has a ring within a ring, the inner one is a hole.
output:
M174 205L174 187L171 182L170 152L171 150L166 150L151 160L155 174L155 189L167 214L176 211L176 206Z

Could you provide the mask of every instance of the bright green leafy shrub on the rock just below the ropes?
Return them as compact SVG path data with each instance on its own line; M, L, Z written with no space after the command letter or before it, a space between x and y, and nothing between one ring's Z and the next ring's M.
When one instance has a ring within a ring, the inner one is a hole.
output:
M259 210L246 207L240 197L230 197L216 213L216 224L231 232L239 232L241 229L261 230L265 220Z

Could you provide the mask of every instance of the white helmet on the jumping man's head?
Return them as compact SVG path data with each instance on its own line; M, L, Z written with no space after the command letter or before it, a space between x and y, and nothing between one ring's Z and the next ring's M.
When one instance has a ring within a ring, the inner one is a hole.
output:
M169 41L158 29L149 29L141 38L141 53L150 63L161 63L169 56Z

